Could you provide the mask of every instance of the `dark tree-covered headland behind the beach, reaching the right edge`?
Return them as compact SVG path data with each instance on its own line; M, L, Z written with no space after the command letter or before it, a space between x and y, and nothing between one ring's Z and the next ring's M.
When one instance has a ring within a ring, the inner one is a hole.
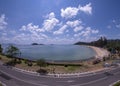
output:
M120 39L108 40L106 37L101 37L97 41L92 42L77 42L75 45L91 45L101 48L107 48L110 52L120 53Z

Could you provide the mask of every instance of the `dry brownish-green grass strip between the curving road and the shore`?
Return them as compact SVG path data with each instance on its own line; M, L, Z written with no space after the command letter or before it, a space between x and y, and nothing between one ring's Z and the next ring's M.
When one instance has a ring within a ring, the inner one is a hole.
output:
M0 55L0 60L4 63L11 61L11 58L7 56ZM112 63L112 60L105 61L107 63ZM26 60L20 60L20 63L15 64L15 67L29 70L29 71L37 71L40 67L36 64L36 62L31 62L32 65L28 65ZM46 67L41 67L45 69L48 73L73 73L73 72L87 72L93 70L99 70L103 68L104 62L100 62L98 64L93 64L93 59L83 62L77 62L79 65L56 65L56 64L48 64Z

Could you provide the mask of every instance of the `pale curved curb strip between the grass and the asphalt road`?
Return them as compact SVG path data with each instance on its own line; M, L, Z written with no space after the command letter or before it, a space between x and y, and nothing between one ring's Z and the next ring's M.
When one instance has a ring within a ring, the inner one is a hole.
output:
M48 73L47 75L40 75L37 72L24 70L24 69L20 69L20 68L16 68L16 67L13 67L13 69L18 71L18 72L23 72L25 74L30 74L30 75L35 75L35 76L45 76L45 77L47 77L47 76L49 76L49 77L83 77L83 76L93 75L93 74L96 74L98 72L108 70L110 68L104 68L104 69L100 69L100 70L97 70L97 71L77 72L77 73L59 73L59 74L58 73L56 73L56 74Z

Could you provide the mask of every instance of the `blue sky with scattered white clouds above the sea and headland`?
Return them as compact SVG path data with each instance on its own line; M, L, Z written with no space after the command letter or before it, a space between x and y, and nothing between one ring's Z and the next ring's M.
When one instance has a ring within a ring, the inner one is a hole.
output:
M120 38L120 0L0 0L0 43Z

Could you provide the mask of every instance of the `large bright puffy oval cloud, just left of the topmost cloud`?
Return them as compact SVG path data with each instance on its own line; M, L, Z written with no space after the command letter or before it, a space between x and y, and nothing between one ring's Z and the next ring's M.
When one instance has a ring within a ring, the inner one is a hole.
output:
M66 9L61 9L61 16L63 18L72 18L78 14L79 9L76 7L67 7Z

